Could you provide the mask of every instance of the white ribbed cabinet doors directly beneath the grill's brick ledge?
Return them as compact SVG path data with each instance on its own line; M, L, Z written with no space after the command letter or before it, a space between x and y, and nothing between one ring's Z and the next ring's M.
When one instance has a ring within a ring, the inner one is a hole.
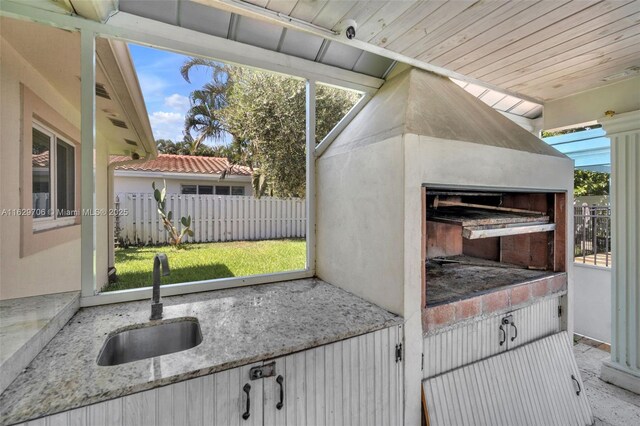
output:
M428 378L446 373L472 362L499 354L507 349L540 339L560 331L558 297L545 299L511 312L518 329L517 337L512 326L503 326L506 342L500 345L500 323L508 313L481 318L424 337L424 368L422 377Z

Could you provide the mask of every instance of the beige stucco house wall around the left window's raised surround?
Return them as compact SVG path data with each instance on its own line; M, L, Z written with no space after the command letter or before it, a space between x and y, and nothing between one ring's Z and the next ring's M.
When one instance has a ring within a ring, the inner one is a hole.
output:
M20 208L20 83L79 128L80 113L4 39L0 47L0 210ZM80 240L20 257L20 218L0 218L0 299L80 289Z

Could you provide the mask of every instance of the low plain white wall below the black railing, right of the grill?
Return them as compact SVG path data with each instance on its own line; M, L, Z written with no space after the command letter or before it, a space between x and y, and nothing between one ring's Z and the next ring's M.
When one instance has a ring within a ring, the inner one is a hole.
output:
M575 332L611 343L611 268L576 263L573 281Z

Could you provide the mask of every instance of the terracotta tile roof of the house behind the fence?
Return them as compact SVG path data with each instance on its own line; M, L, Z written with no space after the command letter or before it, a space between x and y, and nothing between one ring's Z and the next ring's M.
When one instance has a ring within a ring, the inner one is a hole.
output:
M130 160L125 156L112 156L111 163ZM200 157L197 155L159 154L155 160L144 163L117 166L116 170L169 172L169 173L201 173L219 175L229 168L229 160L220 157ZM233 166L231 175L251 176L251 169L246 166Z

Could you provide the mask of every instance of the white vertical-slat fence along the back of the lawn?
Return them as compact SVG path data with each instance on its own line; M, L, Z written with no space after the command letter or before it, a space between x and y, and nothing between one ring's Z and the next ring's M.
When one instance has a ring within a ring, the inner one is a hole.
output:
M166 211L181 228L191 216L193 237L186 242L217 242L304 238L304 199L228 195L167 194ZM116 240L120 244L163 244L168 241L151 193L120 193L115 198Z

